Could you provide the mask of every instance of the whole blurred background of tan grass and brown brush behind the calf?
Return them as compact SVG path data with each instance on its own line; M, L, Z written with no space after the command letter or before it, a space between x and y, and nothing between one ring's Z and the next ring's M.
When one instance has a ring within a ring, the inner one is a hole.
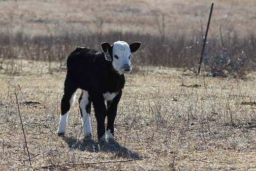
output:
M141 41L133 65L196 72L209 0L0 0L0 67L9 59L58 61L77 46ZM256 68L256 1L217 0L208 33L208 76Z

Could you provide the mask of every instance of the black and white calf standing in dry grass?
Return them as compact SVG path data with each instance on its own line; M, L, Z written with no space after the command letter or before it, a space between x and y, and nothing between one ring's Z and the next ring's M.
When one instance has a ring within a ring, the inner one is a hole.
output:
M140 45L140 42L128 45L124 41L117 41L110 46L105 42L101 43L103 52L77 47L67 57L59 135L66 132L68 111L73 104L77 88L81 88L79 107L85 136L90 138L92 136L90 114L93 103L98 140L114 139L114 120L122 96L122 88L125 85L124 73L131 71L131 53L136 52ZM105 128L106 116L107 128Z

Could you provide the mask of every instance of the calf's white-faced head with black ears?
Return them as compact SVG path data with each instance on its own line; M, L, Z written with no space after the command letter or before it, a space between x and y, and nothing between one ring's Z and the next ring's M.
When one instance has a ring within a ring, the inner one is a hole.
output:
M109 43L104 42L101 43L101 49L105 54L105 59L112 61L113 68L121 75L131 71L131 53L136 52L140 45L140 42L128 45L124 41L117 41L110 46Z

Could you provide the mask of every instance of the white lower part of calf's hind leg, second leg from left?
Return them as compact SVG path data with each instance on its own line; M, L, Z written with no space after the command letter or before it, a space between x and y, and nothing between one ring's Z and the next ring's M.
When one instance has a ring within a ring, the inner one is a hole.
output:
M91 130L91 116L86 112L86 105L89 103L88 101L88 91L83 90L83 96L80 101L80 108L82 111L82 124L83 124L83 132L85 136L91 137L92 136L92 130Z

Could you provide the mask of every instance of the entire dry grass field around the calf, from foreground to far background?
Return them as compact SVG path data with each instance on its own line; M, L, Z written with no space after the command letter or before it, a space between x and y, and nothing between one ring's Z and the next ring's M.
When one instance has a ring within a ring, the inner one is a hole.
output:
M0 171L255 171L256 1L215 1L208 55L224 48L215 46L221 26L228 53L245 51L252 64L228 77L191 69L211 3L0 0ZM67 55L116 37L142 48L126 75L115 141L97 142L94 111L93 137L84 139L77 99L59 137Z

